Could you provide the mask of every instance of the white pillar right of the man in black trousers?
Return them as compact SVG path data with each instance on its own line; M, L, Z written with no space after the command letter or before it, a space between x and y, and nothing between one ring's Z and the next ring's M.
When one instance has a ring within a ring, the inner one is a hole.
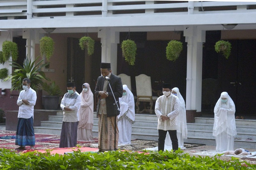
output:
M205 31L196 26L185 26L184 36L188 42L186 110L201 112L202 103L202 58Z

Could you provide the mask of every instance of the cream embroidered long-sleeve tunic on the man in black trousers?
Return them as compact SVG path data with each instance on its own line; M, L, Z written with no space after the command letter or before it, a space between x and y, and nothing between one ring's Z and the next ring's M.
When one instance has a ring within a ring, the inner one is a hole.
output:
M156 100L155 112L158 117L157 130L177 130L176 117L179 115L180 100L177 96L160 96ZM167 115L170 119L162 121L161 115Z

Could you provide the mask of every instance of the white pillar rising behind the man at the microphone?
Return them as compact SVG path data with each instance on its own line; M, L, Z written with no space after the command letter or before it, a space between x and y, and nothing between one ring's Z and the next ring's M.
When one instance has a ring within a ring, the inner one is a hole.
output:
M110 28L99 28L98 37L101 38L101 62L111 63L112 73L116 74L119 32Z

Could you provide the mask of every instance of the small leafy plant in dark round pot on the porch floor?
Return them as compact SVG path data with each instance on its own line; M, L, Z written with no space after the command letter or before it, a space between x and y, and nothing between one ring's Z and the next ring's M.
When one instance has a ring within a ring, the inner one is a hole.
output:
M63 94L60 87L52 81L50 84L44 82L42 89L49 95L43 97L43 105L45 110L57 110L60 103L60 95Z

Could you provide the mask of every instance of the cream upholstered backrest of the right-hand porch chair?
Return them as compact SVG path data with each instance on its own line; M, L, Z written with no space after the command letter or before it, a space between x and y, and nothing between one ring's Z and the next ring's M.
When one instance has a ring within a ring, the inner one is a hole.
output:
M137 96L152 96L151 78L145 74L135 76Z

